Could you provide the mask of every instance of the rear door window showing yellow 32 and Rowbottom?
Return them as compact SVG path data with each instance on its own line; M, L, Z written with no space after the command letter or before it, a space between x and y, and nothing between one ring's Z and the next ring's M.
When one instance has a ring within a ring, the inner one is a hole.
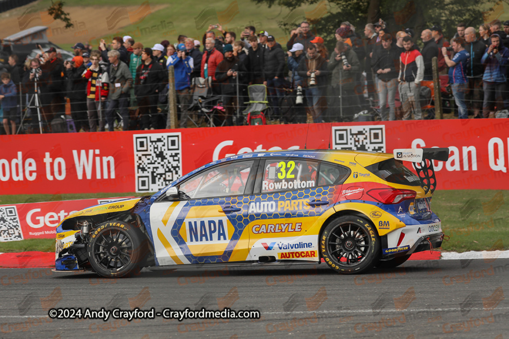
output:
M318 162L303 159L265 161L262 191L272 193L316 187Z

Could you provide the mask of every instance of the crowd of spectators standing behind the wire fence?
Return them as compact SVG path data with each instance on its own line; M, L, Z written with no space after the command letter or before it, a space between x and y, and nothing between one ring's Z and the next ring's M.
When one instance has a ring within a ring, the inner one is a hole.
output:
M435 57L435 71L448 75L441 90L451 94L459 118L494 117L509 108L509 20L477 29L460 22L450 43L439 25L423 29L418 42L414 29L394 31L381 19L367 23L363 36L342 22L334 36L328 50L306 21L286 44L253 26L237 39L216 24L202 41L180 35L174 44L163 40L152 47L130 36L115 37L109 46L101 40L97 49L76 43L75 56L65 63L53 47L24 67L11 55L9 65L0 67L4 133L16 133L27 117L23 131L38 133L37 106L45 131L66 106L76 132L169 128L169 67L181 128L197 114L191 102L199 78L210 80L211 95L220 98L216 107L225 125L245 124L239 112L253 84L267 87L270 118L280 123L347 121L362 112L381 120L433 119L435 110L426 106L433 98L423 89L432 87Z

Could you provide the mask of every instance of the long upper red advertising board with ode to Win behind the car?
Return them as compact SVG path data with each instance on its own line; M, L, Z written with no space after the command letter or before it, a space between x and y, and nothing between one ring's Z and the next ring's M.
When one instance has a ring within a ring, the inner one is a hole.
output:
M211 161L251 151L392 152L449 147L438 189L509 188L509 120L447 119L0 136L0 191L155 192Z

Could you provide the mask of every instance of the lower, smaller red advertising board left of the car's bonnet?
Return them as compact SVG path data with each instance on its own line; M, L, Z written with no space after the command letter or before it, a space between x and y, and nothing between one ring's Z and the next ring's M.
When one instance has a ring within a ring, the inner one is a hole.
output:
M55 238L55 229L67 215L89 206L127 199L102 198L0 205L0 241Z

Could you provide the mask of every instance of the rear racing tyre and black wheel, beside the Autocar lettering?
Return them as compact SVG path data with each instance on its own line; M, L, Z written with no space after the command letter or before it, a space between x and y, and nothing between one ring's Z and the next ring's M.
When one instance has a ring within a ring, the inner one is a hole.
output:
M380 256L375 227L356 215L331 221L320 234L322 257L338 273L356 274L373 268Z

